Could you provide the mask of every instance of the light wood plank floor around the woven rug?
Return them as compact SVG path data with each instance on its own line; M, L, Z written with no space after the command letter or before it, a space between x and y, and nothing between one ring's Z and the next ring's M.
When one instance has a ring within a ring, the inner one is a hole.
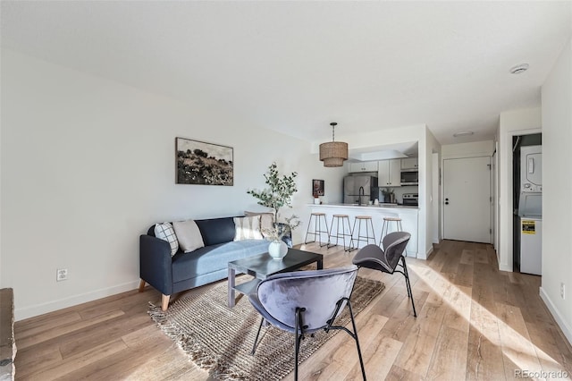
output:
M306 250L324 253L324 267L353 256ZM572 351L538 295L539 276L501 272L491 245L461 241L443 241L427 261L408 258L408 267L417 318L400 274L359 270L386 284L357 316L368 379L501 380L521 370L572 377ZM147 286L16 322L16 379L209 379L147 316L147 301L160 300ZM304 380L361 378L343 333L299 370Z

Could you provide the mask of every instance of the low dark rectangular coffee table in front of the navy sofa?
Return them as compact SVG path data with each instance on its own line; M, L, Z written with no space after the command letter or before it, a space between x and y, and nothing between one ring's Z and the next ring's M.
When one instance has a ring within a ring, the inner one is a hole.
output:
M324 268L324 256L309 251L288 249L286 257L276 260L268 253L256 257L242 258L229 262L229 307L234 307L234 292L238 291L248 295L257 289L261 280L278 273L298 270L300 267L317 263L318 270ZM244 284L235 284L236 273L252 275L255 278Z

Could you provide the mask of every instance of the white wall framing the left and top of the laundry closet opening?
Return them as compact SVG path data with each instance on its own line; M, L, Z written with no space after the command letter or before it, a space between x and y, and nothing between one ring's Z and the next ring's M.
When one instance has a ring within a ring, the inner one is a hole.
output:
M541 109L527 108L501 113L499 122L499 267L512 271L512 137L541 131ZM544 149L543 149L544 151ZM543 192L543 199L546 192Z

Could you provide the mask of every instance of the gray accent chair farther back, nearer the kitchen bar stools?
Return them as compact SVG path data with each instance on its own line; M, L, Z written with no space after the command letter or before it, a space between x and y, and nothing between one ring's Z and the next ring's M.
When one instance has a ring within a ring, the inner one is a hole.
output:
M383 237L383 249L373 244L366 245L357 251L352 262L357 267L373 268L374 270L380 270L387 274L400 273L405 276L408 298L411 299L411 305L413 306L413 316L417 317L411 283L409 282L408 266L405 263L405 256L403 255L410 238L411 234L407 232L389 233ZM398 266L400 266L401 269L397 269Z

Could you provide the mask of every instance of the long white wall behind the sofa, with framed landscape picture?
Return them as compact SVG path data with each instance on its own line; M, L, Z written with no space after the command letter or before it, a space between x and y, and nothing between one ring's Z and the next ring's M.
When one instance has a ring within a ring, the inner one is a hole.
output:
M16 318L132 290L139 234L160 221L261 209L272 161L299 172L295 208L307 223L311 180L341 199L343 168L324 168L296 140L200 101L188 104L9 50L2 51L1 286ZM234 186L176 185L175 137L234 148ZM55 282L58 267L69 279Z

